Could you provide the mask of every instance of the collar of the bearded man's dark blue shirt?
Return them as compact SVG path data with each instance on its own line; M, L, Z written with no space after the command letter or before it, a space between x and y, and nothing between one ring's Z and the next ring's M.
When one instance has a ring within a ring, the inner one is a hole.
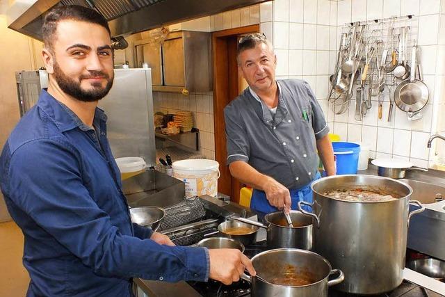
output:
M82 131L91 130L92 127L85 125L81 119L65 104L59 102L53 96L51 96L47 89L42 89L40 93L39 101L37 105L47 113L47 115L54 120L54 123L60 129L61 132L65 132L76 127L79 127ZM67 116L68 115L68 116ZM100 127L100 122L106 122L107 117L105 112L99 107L96 107L95 118L93 125Z

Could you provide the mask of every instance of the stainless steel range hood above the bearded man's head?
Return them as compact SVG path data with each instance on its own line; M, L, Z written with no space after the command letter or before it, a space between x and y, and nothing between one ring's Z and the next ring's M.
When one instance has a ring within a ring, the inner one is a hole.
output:
M187 19L213 15L250 6L266 0L38 0L31 2L19 17L12 17L9 28L42 40L44 13L57 3L95 8L108 20L113 38Z

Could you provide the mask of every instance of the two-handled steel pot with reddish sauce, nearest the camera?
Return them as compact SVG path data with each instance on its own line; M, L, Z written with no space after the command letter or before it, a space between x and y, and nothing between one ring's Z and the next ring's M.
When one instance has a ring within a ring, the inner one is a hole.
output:
M252 258L257 275L242 278L251 282L254 297L327 297L327 288L343 281L343 272L331 268L315 252L294 248L267 250ZM334 280L330 275L337 274ZM307 284L299 284L305 280Z

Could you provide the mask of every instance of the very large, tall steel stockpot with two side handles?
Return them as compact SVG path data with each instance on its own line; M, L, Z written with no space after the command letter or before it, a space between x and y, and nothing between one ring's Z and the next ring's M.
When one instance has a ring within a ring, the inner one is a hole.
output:
M326 191L364 188L391 193L398 199L386 202L350 202L329 198ZM410 200L412 188L387 177L337 175L312 184L314 252L345 273L337 288L353 294L381 294L403 280L407 229L410 218L425 207ZM409 204L420 209L409 212Z

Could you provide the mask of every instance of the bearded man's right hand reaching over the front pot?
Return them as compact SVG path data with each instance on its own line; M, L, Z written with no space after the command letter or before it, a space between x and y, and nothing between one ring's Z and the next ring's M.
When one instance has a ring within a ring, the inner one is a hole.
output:
M223 284L238 282L245 269L252 276L256 274L252 262L240 250L232 248L211 249L209 250L209 258L209 278L219 280Z

